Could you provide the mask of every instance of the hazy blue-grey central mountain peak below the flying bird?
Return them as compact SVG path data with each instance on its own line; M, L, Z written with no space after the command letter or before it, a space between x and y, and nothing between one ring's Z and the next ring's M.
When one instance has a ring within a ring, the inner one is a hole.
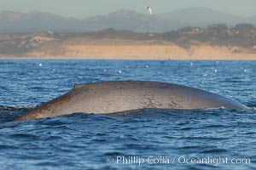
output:
M94 31L107 28L130 31L170 31L183 27L183 24L177 20L165 20L157 15L139 14L123 8L111 14L85 19L84 26Z

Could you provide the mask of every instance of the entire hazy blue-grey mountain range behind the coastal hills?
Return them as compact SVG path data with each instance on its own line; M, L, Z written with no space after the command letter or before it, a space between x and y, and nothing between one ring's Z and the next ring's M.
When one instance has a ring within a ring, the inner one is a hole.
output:
M172 31L185 26L208 26L224 23L235 25L251 23L256 25L256 15L247 19L210 8L187 8L167 14L139 14L129 9L119 9L106 15L97 15L84 20L65 18L56 14L41 12L0 13L0 32L38 32L38 31L99 31L113 28L129 31Z

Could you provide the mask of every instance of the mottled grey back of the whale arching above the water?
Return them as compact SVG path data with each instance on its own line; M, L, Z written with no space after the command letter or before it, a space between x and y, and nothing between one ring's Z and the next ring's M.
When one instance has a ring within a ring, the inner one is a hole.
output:
M96 82L76 84L67 94L36 107L16 120L75 112L108 114L150 108L193 110L221 107L247 109L247 106L218 94L177 84L142 81Z

